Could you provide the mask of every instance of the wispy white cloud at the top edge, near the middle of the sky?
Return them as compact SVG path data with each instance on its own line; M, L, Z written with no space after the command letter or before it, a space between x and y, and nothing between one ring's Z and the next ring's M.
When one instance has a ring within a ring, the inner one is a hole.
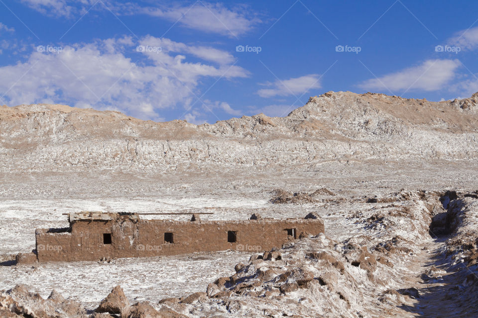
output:
M239 36L260 23L258 18L250 17L246 7L229 9L222 3L195 2L192 6L139 7L139 13L178 21L190 29Z

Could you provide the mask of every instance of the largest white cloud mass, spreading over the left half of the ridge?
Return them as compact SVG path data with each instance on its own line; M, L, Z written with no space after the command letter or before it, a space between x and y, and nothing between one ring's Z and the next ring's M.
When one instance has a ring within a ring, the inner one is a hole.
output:
M157 119L161 109L195 100L193 92L201 78L247 75L237 66L188 63L186 56L168 54L171 51L135 52L146 57L146 65L134 63L121 53L135 50L138 43L130 43L123 37L66 46L59 53L35 50L24 63L0 68L0 92L6 92L3 99L10 105L54 101L97 109L115 107L132 116Z

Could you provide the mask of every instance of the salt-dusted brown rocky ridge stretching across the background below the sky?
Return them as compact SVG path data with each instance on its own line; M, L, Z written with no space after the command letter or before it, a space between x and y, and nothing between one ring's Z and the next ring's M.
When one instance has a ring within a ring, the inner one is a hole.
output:
M313 169L329 160L474 160L478 93L429 102L327 92L286 117L156 123L64 105L0 107L0 171Z

